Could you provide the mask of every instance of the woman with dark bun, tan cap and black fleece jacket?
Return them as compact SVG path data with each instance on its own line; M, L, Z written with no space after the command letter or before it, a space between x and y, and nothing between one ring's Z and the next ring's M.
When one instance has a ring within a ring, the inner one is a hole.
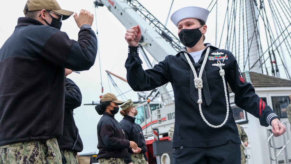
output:
M123 164L123 158L127 157L127 148L137 149L134 141L125 138L125 134L114 115L118 113L123 101L117 100L112 93L103 95L100 104L95 106L99 115L103 115L97 125L97 160L99 164Z

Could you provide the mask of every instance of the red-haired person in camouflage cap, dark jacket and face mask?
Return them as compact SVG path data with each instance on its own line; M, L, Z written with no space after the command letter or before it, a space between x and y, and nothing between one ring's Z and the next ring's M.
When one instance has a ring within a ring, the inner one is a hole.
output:
M139 124L136 124L135 117L137 115L138 104L134 104L131 99L127 100L125 103L120 105L120 114L123 115L123 119L119 122L123 131L125 132L125 138L136 142L138 146L138 151L134 151L128 148L127 157L124 158L125 163L133 164L148 164L148 157L146 152L148 151L145 145L145 138L143 136L143 131Z

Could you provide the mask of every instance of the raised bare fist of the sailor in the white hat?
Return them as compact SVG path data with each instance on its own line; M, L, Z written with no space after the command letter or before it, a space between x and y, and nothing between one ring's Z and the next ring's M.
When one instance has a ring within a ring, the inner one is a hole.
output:
M141 40L141 28L139 25L132 26L126 31L125 40L129 46L136 47L139 45L139 41Z

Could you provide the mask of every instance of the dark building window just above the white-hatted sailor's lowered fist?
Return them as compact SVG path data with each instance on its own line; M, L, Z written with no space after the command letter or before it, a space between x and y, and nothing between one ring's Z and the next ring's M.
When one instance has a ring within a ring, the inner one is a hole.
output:
M286 118L286 108L290 104L290 99L288 96L274 96L271 97L273 110L280 118Z

